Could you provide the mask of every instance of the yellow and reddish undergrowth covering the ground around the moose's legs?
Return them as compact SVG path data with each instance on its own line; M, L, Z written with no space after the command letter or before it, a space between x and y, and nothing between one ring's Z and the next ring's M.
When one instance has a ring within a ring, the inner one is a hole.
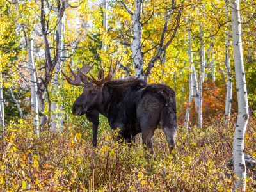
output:
M35 136L31 121L11 121L0 145L1 191L231 191L234 178L225 176L225 163L232 158L234 124L178 127L174 159L161 129L154 134L151 156L141 136L129 148L113 141L115 133L104 118L100 121L97 148L90 124ZM245 153L256 157L255 148L256 121L250 118ZM247 177L246 191L255 186Z

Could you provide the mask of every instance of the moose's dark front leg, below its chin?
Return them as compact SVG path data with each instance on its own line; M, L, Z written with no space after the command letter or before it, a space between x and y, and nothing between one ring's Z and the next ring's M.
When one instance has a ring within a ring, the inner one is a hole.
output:
M88 121L92 122L92 145L97 146L97 131L99 126L99 113L98 111L88 111L86 113Z

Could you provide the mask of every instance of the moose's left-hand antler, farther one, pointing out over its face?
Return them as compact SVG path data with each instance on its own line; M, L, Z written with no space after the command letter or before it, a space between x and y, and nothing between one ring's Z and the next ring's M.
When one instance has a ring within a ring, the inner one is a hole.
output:
M93 65L94 65L94 64L93 64ZM70 77L68 77L68 76L63 72L62 68L61 68L61 73L62 73L63 76L66 78L66 80L68 81L68 83L73 84L73 85L76 85L76 86L84 86L84 84L81 84L81 82L83 82L82 79L81 79L81 74L82 74L82 73L83 73L83 74L88 74L88 72L92 69L93 65L92 65L92 66L90 66L90 65L85 65L85 64L83 63L83 67L82 67L82 68L79 69L79 68L77 67L77 75L76 75L76 74L74 73L74 71L71 69L71 67L70 67L70 65L69 65L69 63L68 63L68 68L70 69L70 72L72 73L72 76L74 77L74 80L71 79Z

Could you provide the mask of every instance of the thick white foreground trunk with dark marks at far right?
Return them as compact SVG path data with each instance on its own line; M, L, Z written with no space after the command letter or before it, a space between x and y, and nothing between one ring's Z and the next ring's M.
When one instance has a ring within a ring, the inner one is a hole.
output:
M249 110L243 63L239 0L231 1L231 13L236 90L238 100L238 116L233 143L234 174L237 176L234 189L245 191L246 169L244 161L244 134L248 123Z

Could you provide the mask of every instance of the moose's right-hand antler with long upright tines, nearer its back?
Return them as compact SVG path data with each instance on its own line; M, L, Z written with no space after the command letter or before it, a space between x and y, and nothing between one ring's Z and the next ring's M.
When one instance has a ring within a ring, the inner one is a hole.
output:
M88 78L90 81L92 81L92 83L96 84L97 86L99 86L101 84L108 83L109 81L111 81L111 79L113 79L113 77L115 77L115 75L118 71L118 68L121 65L121 61L122 61L122 58L120 59L120 61L116 61L116 67L113 71L113 60L111 59L108 76L106 76L106 77L105 77L104 69L103 69L102 65L100 65L101 70L99 71L99 74L101 73L102 77L99 80L95 79L92 76L92 74L90 74L91 77L88 77L84 72L81 72L81 76L83 76L84 78Z

